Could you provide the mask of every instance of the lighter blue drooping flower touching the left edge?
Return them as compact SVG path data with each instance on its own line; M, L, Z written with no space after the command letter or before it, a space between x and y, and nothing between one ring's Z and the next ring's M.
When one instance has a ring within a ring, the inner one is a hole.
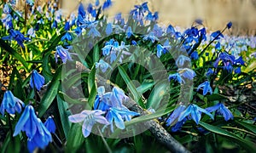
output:
M7 111L9 114L15 114L15 111L18 113L21 112L21 108L24 107L24 103L16 98L11 91L6 91L3 94L3 101L0 106L0 112L4 116L4 110Z

